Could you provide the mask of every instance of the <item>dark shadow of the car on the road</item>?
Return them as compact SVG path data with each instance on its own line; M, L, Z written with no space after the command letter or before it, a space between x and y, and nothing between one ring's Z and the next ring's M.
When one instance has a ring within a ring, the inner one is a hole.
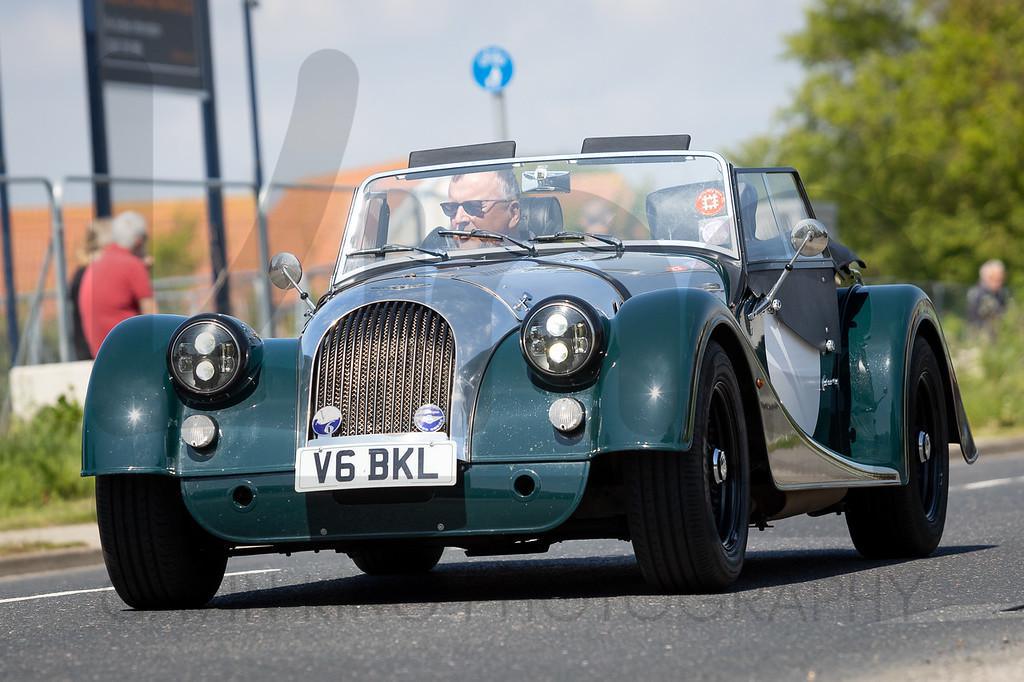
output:
M995 545L942 547L930 559L991 549ZM865 560L853 550L751 552L740 579L728 593L743 593L850 576L909 560ZM213 608L455 603L628 597L656 594L630 555L558 559L445 561L423 576L352 576L334 580L233 592L211 602Z

